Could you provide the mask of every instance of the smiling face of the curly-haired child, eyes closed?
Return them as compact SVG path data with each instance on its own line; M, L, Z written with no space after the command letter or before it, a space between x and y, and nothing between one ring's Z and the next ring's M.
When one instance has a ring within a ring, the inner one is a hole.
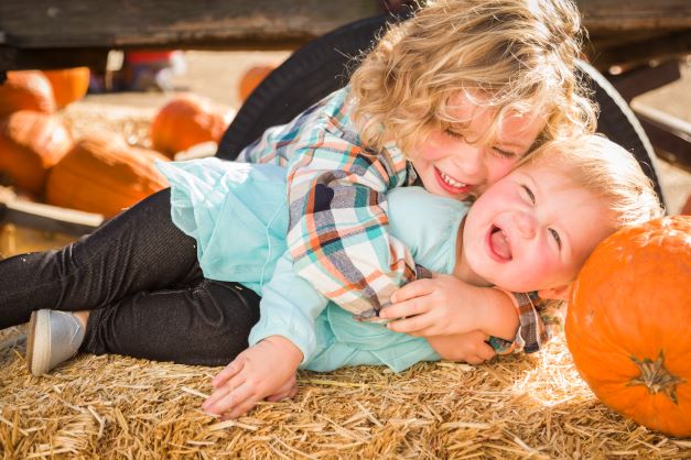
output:
M481 195L511 171L537 139L544 120L530 114L506 117L498 139L476 142L492 127L495 112L475 105L466 95L451 102L452 114L467 122L434 131L410 158L428 191L466 199Z

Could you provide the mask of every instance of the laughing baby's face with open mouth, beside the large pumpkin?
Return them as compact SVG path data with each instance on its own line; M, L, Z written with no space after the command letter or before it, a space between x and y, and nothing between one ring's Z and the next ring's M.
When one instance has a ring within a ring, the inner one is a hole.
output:
M465 219L461 258L496 286L528 292L568 285L614 231L602 199L550 163L510 173L475 201Z

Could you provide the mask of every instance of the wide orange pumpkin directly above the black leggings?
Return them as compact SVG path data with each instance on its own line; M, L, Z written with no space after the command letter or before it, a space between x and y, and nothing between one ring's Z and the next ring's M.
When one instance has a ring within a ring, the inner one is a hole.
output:
M131 147L111 134L80 139L51 169L45 198L51 205L115 216L168 186L158 152Z

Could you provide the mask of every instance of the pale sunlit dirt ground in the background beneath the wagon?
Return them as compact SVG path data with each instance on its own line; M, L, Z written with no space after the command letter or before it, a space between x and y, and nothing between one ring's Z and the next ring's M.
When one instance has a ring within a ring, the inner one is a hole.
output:
M280 64L289 52L185 52L186 72L173 78L176 90L188 90L207 96L225 106L238 109L238 85L242 74L256 64ZM666 87L647 92L633 102L662 110L691 123L691 59L682 65L682 78ZM173 96L172 92L117 92L88 95L82 102L89 105L140 108L143 113L155 113ZM691 173L661 160L657 162L662 190L670 213L678 212L691 194Z

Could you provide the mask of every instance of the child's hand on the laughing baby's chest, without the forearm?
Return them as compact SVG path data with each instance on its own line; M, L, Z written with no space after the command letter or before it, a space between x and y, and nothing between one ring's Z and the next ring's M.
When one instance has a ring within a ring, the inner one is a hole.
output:
M392 304L384 308L379 316L395 319L387 325L389 329L417 337L482 330L488 303L487 291L494 289L435 274L433 278L413 281L396 291L391 296Z

